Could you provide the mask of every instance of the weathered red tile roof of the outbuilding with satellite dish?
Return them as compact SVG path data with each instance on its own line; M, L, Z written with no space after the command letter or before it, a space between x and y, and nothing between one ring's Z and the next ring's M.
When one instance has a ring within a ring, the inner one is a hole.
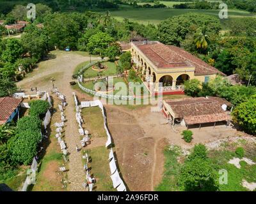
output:
M203 124L227 121L230 116L221 105L226 104L221 98L185 98L166 101L175 113L175 118L184 119L186 124Z

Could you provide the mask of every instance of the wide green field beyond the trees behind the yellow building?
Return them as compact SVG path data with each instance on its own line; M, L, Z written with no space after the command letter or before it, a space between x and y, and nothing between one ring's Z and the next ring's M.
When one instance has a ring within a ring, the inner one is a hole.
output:
M159 24L166 18L182 15L185 13L204 13L218 17L219 10L186 10L174 8L122 8L120 10L111 11L111 16L118 20L129 18L130 20L139 22L141 24ZM102 12L102 13L105 13ZM229 10L228 15L230 18L235 17L256 17L247 11Z

